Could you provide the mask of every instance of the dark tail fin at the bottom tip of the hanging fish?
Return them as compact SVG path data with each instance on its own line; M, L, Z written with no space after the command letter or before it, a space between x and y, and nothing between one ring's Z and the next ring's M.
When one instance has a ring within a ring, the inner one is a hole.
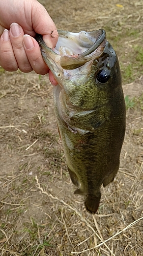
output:
M94 195L88 195L88 197L85 199L84 205L87 211L90 212L90 214L95 214L98 210L100 198L101 194L99 194L98 197Z

